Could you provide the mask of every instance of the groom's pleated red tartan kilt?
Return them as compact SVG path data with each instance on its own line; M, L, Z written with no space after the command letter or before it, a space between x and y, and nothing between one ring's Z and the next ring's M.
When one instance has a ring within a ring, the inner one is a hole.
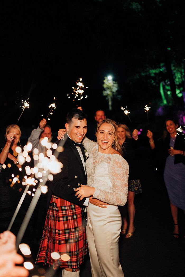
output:
M82 208L54 195L51 202L55 202L57 207L49 206L36 263L48 263L54 269L57 266L78 268L88 252L86 229L82 227ZM53 260L52 252L67 254L70 260Z

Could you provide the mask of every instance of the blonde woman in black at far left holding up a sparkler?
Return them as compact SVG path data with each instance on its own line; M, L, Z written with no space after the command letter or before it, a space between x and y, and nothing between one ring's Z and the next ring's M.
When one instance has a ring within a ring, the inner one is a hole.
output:
M18 183L11 186L12 174L22 179L21 165L17 161L16 147L20 142L21 130L18 125L12 124L6 128L6 143L0 146L0 231L7 229L13 212L18 204L19 194ZM16 154L15 154L16 153Z

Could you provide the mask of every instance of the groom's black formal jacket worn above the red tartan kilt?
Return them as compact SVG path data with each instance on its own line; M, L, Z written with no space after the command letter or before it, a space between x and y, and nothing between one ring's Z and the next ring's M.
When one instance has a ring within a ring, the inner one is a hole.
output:
M74 189L78 188L80 184L86 185L87 176L85 175L82 160L73 141L69 139L67 134L64 137L66 140L64 151L59 153L58 156L58 160L63 164L62 171L53 175L53 181L49 181L50 191L48 200L50 201L51 195L54 194L74 204L83 206L86 198L79 201L77 196L75 196ZM59 140L56 143L59 143Z

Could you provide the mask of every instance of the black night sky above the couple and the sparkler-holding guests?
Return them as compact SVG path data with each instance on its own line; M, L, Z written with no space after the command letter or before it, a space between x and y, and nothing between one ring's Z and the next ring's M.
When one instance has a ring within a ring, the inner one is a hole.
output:
M81 106L89 120L96 109L104 109L131 129L147 129L144 106L150 104L151 127L156 120L164 122L155 117L159 85L152 86L142 73L165 62L183 63L184 8L179 0L2 2L1 140L22 112L21 99L29 98L30 104L18 123L23 137L38 126L42 114L47 116L54 96L57 108L48 124L53 131L63 127L67 111L79 104L67 94L80 77L88 87ZM118 82L121 98L113 99L112 111L102 95L108 75ZM133 124L121 106L128 106Z

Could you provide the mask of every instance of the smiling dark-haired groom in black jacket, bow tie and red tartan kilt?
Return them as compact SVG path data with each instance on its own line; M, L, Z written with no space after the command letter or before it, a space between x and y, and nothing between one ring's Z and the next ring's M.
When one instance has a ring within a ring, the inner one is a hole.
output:
M64 151L58 156L63 168L49 184L50 206L37 256L37 262L49 263L56 268L50 252L69 255L68 261L60 260L64 277L79 276L79 266L88 252L86 230L82 225L84 207L88 206L88 202L97 206L105 205L104 202L92 198L79 201L74 192L80 184L87 183L86 156L81 143L87 132L86 119L86 114L79 109L72 109L67 114L67 134L64 135L66 142ZM47 251L48 254L45 255Z

